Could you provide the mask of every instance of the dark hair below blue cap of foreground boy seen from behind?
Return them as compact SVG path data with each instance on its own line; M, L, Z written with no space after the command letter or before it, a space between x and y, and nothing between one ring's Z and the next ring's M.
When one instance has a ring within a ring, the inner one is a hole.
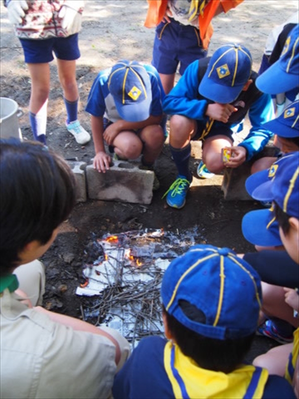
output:
M197 311L200 312L198 309ZM194 309L192 313L194 314ZM166 317L168 329L182 353L193 359L199 367L207 370L226 374L234 371L244 360L255 336L253 333L237 339L207 338L183 326L175 317L166 312L164 306L163 314Z

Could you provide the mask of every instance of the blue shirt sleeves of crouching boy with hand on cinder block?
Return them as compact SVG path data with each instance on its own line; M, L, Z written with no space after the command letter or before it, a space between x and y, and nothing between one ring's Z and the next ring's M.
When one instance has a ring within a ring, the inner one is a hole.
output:
M162 101L164 99L164 90L157 70L152 65L142 64L149 74L151 83L152 102L150 115L162 115ZM91 87L86 111L93 116L104 116L111 122L121 120L117 112L114 99L108 89L108 80L112 68L100 71Z

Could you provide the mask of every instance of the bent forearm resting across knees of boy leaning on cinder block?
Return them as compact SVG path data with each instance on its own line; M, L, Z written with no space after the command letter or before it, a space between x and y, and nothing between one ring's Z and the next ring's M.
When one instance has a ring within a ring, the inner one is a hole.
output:
M162 115L153 116L150 115L148 119L141 122L127 122L123 119L114 122L112 125L108 126L104 132L104 139L108 145L112 145L116 136L123 132L124 130L137 130L143 129L146 126L159 125L162 119Z

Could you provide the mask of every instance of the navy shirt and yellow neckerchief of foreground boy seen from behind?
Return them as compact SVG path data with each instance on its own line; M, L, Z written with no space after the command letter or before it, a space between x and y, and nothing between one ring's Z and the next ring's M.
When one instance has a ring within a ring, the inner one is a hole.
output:
M226 375L195 366L177 347L173 357L171 351L171 344L163 338L143 339L116 375L113 397L295 398L286 379L268 376L265 369L244 365Z

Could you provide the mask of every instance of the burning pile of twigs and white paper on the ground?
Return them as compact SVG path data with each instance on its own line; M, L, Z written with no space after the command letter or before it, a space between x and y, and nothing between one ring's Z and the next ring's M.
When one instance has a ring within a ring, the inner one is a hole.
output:
M85 251L85 283L77 295L95 297L81 309L83 318L97 317L97 326L120 332L134 348L149 335L163 336L160 287L172 259L205 242L198 227L177 233L134 230L94 239Z

